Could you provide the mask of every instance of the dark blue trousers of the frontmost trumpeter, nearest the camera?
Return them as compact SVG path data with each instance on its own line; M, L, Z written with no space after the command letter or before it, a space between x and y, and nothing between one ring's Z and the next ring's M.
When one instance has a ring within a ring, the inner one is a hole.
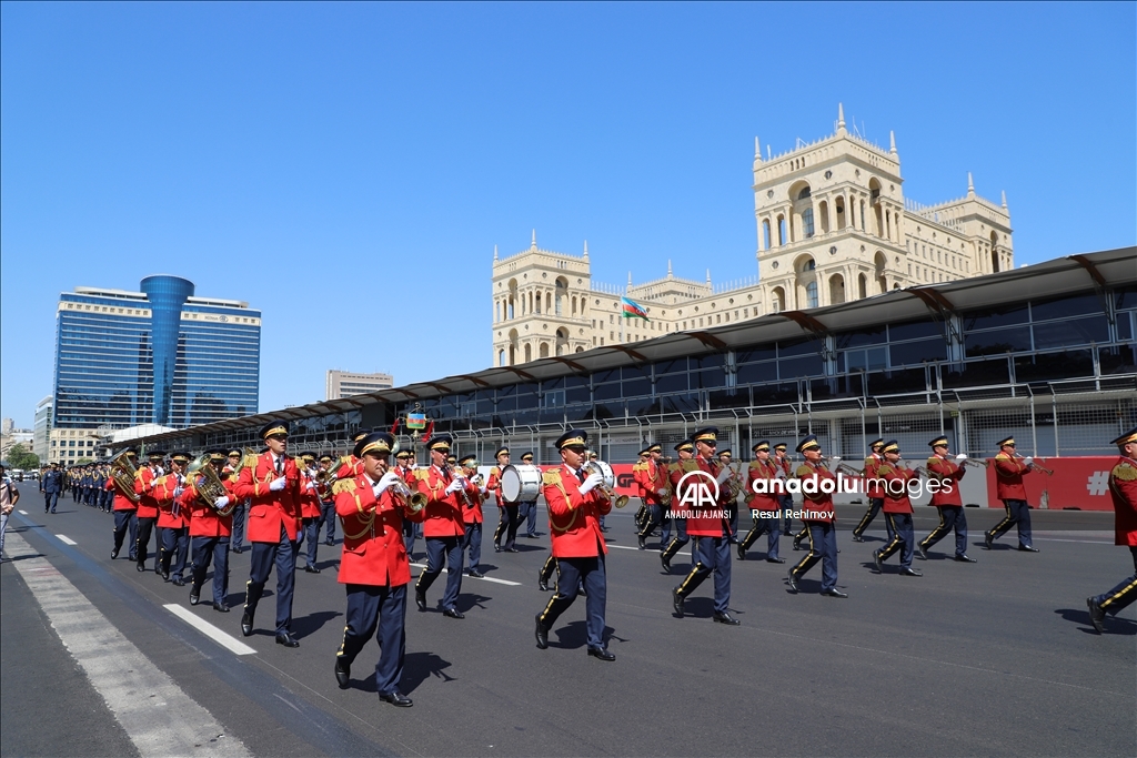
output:
M379 642L375 689L380 694L390 694L399 689L399 680L402 678L402 658L407 642L407 585L348 584L346 589L347 622L343 642L335 657L347 659L350 666L374 634Z

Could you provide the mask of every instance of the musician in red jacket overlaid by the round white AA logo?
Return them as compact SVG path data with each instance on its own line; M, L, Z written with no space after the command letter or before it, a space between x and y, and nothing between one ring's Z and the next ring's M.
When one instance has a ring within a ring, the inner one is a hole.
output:
M687 533L695 538L695 565L682 583L671 591L671 603L679 618L683 617L683 601L698 589L699 584L714 574L715 623L738 626L740 620L730 615L730 511L731 498L727 481L731 470L719 464L715 457L719 430L714 426L696 432L696 456L683 466L683 474L675 486L672 507L688 513ZM703 472L706 476L695 472ZM714 483L712 485L712 482ZM715 495L715 497L706 497Z

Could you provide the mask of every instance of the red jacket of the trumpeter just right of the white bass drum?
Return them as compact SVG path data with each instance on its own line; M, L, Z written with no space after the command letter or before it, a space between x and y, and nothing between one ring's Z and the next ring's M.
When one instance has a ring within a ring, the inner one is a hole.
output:
M553 466L541 474L545 502L549 507L549 536L554 558L594 558L607 555L600 516L612 503L598 490L580 493L580 480L567 466Z

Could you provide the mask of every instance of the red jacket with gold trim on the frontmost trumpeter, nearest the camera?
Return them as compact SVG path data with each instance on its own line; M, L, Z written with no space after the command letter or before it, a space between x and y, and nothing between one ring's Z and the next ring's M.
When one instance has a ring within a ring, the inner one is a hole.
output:
M375 499L366 474L335 488L335 513L343 525L340 584L401 586L410 581L402 519L421 522L426 509L407 514L388 489Z

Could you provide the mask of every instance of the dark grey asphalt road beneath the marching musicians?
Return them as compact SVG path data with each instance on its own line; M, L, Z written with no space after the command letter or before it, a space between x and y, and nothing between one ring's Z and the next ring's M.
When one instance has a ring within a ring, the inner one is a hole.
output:
M921 578L897 575L895 558L883 575L869 570L880 520L865 544L841 531L838 584L847 600L816 594L820 567L800 594L789 593L788 564L761 559L763 538L745 564L733 564L731 607L742 625L724 627L709 618L709 580L684 618L672 616L670 592L684 565L677 558L665 576L655 550L634 549L630 507L608 522L613 664L586 656L583 599L562 616L548 650L534 647L533 616L549 597L536 586L547 538L493 553L488 523L483 569L518 584L466 577L464 620L434 608L445 577L430 592L430 611L410 602L402 690L415 705L396 709L374 692L377 645L357 659L351 689L335 685L339 547L321 544L323 573L297 573L300 648L274 644L268 597L262 628L243 640L256 653L236 656L164 608L190 609L188 589L109 560L110 516L69 497L44 515L35 488L22 486L27 515L14 515L9 527L257 756L1137 755L1135 608L1098 636L1085 605L1132 570L1128 551L1112 547L1109 514L1034 511L1041 552L1013 550L1013 535L988 552L982 530L1002 511L969 509L979 563L949 560L945 540L931 560L915 563ZM862 509L839 511L847 530ZM936 520L922 509L918 535ZM782 555L803 553L783 539ZM248 560L248 552L231 556L233 606L243 601ZM0 576L0 752L134 755L16 565L6 561ZM241 640L239 608L190 610Z

